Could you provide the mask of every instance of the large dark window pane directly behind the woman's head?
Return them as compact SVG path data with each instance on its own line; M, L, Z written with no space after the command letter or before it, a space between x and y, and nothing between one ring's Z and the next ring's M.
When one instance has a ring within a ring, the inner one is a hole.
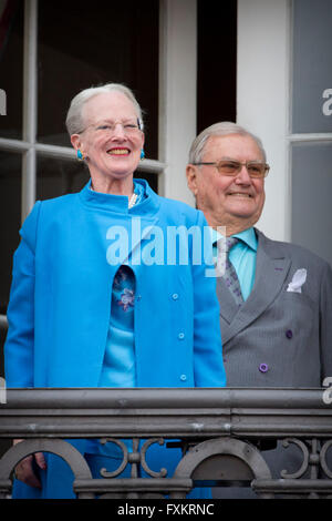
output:
M39 2L38 140L70 145L65 116L82 89L129 86L146 112L146 156L158 150L158 1ZM85 6L85 3L83 3Z

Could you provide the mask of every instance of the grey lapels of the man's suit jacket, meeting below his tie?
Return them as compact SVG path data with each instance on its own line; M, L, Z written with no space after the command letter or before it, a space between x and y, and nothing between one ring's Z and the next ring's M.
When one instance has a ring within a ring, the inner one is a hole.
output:
M280 252L277 248L273 248L273 241L269 241L258 231L257 234L258 251L256 278L249 298L243 303L238 311L235 310L234 307L230 307L229 310L227 310L226 306L228 305L229 297L232 297L226 285L220 287L220 294L218 294L220 297L220 315L228 323L224 323L221 325L224 345L256 320L256 318L258 318L276 299L290 269L290 258L284 257L284 255L280 255ZM228 293L227 298L226 293Z

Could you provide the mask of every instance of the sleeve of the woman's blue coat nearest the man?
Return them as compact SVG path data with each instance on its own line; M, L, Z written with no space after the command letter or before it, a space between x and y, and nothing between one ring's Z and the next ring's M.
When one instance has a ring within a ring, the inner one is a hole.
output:
M212 267L212 246L208 224L198 212L197 225L201 229L201 263L193 263L194 285L194 372L196 387L224 387L226 372ZM212 275L212 276L211 276Z

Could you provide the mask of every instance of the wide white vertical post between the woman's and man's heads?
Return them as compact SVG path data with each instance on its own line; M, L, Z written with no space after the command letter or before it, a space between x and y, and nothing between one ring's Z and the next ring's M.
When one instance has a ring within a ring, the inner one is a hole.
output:
M160 0L159 193L194 204L185 168L196 135L197 2Z

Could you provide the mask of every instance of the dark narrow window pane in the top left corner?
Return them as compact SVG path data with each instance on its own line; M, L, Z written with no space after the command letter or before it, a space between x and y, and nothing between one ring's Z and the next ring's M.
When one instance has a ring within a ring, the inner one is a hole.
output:
M22 86L23 2L0 0L0 89L6 93L6 111L0 110L1 137L22 137Z

